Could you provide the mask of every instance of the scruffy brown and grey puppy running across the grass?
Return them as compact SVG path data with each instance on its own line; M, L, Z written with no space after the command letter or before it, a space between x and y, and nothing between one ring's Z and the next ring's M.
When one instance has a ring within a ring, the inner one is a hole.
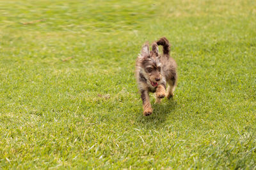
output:
M158 45L163 46L163 54L159 54ZM161 38L152 43L152 51L148 43L142 46L141 53L136 60L136 79L143 102L143 115L152 114L152 107L148 92L156 94L156 103L161 103L163 97L173 97L177 85L177 64L170 57L170 44L168 39ZM166 83L168 90L166 93Z

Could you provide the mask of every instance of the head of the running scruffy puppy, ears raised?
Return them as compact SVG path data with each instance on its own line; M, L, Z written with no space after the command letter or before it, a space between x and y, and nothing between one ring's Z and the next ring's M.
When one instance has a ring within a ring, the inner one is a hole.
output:
M152 51L150 51L148 43L145 43L141 48L139 59L143 75L150 81L152 87L157 87L159 81L163 78L157 44L153 43Z

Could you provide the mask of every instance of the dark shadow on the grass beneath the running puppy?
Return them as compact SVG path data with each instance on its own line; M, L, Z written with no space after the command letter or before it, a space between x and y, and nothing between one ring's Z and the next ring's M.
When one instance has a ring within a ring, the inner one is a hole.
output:
M152 104L153 113L148 117L142 114L136 118L141 128L154 129L162 127L168 115L172 114L177 106L175 99L163 99L161 104Z

